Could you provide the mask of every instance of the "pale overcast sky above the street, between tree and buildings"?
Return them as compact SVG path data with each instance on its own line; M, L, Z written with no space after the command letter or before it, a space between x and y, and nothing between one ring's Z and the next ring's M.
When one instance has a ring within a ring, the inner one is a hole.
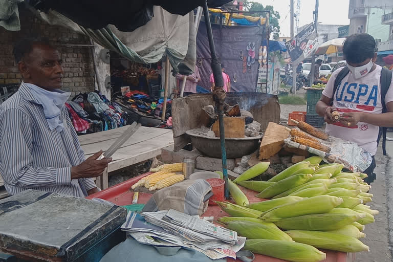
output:
M290 0L252 0L264 6L270 5L280 14L280 36L290 36ZM295 13L296 3L294 0ZM318 22L324 25L349 25L348 6L350 0L320 0ZM310 24L313 21L313 11L315 10L315 0L300 0L299 27ZM296 31L295 31L296 34Z

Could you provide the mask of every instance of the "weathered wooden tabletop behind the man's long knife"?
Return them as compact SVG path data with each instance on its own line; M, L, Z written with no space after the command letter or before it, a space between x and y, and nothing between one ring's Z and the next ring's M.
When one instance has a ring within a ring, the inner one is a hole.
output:
M125 129L123 127L121 128L121 130L117 130L117 132L111 132L110 134L106 134L107 131L104 131L95 134L79 136L79 141L85 155L95 154L99 150L106 151L116 141L116 139L123 134ZM90 137L84 138L85 136ZM141 126L137 132L132 137L130 137L120 148L138 143L144 143L148 140L157 139L161 136L170 136L173 140L172 130L170 129Z

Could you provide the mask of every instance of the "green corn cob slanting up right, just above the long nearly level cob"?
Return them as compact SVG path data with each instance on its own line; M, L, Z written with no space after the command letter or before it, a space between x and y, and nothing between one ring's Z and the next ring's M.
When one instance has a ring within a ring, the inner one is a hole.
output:
M287 217L326 213L334 207L340 205L342 199L330 195L318 195L308 199L303 199L295 203L279 206L270 211L264 212L260 218L268 222L275 222Z

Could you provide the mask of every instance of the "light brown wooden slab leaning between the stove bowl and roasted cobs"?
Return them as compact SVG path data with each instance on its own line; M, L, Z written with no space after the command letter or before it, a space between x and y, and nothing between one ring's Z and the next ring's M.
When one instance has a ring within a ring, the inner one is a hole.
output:
M259 159L268 159L277 154L284 145L284 139L289 137L289 131L283 125L270 122L259 148Z

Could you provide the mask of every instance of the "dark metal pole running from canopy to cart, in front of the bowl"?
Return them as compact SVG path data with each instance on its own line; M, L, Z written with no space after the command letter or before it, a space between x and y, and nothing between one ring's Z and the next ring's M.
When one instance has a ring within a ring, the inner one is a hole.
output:
M214 90L213 99L215 101L215 109L219 115L219 126L220 126L220 141L221 141L221 154L223 163L223 175L225 181L225 198L229 199L229 187L228 187L228 170L227 170L227 151L225 148L225 132L224 132L224 101L226 93L223 89L224 81L223 74L221 71L221 64L215 54L213 32L211 30L209 9L207 6L207 0L205 0L203 13L205 16L206 31L209 39L210 53L211 53L211 69L214 77Z

